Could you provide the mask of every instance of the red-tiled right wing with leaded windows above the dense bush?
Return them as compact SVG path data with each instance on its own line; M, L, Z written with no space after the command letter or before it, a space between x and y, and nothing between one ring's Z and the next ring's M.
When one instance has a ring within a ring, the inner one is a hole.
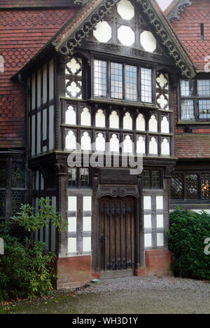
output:
M181 78L174 99L179 160L172 176L171 206L209 212L210 4L208 0L173 1L165 15L197 71L193 79Z

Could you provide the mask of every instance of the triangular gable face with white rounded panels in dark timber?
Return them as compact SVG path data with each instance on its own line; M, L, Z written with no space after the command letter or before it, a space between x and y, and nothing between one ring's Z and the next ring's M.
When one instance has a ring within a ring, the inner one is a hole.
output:
M106 43L147 53L165 53L159 39L154 36L151 25L141 15L135 1L130 0L120 0L113 6L111 12L102 22L97 23L86 40L97 43L94 47L99 46L99 43Z

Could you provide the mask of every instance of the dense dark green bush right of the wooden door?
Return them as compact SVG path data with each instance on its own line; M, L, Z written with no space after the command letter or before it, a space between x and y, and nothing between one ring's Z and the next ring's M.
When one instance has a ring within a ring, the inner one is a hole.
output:
M175 275L210 280L210 255L204 253L204 241L210 237L210 215L177 209L170 215L168 235Z

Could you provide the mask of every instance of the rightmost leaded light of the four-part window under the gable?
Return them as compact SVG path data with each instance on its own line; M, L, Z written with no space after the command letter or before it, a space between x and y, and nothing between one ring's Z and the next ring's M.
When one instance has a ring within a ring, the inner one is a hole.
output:
M141 102L153 102L152 70L141 67Z

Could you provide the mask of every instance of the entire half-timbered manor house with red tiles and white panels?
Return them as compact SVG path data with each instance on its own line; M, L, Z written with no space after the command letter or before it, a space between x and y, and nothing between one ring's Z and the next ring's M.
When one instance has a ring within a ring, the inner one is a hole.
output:
M209 0L0 0L0 220L62 214L34 235L57 288L169 275L169 212L210 212L209 45ZM70 167L78 144L111 165Z

